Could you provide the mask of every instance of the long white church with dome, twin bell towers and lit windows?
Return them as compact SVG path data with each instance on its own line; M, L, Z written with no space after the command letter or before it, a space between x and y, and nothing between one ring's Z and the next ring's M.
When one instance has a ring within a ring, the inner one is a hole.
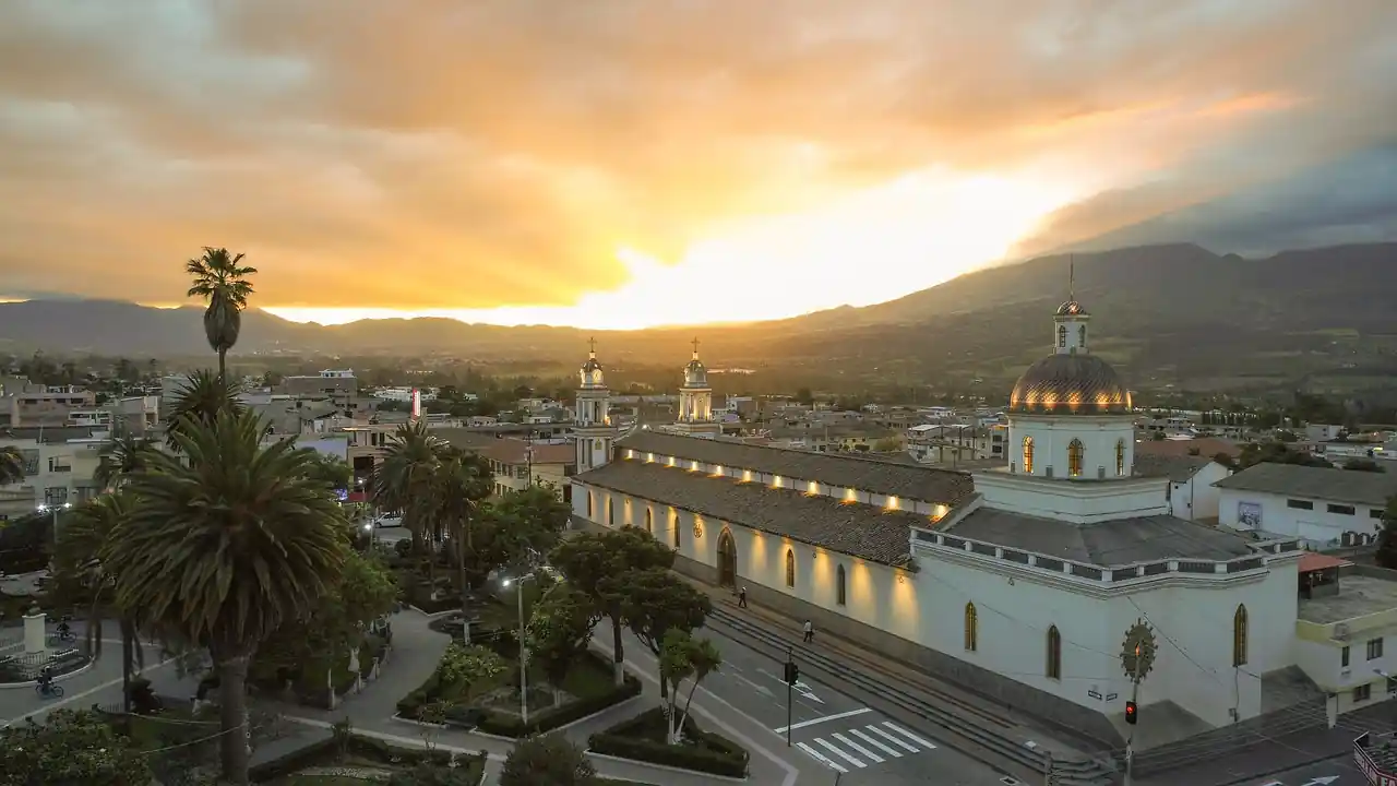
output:
M1302 552L1171 515L1088 323L1074 299L1058 309L1053 352L1014 386L1004 466L974 474L715 436L697 345L680 422L617 438L592 352L574 515L645 529L682 572L1099 740L1123 738L1137 625L1154 646L1141 715L1255 717L1267 677L1294 671Z

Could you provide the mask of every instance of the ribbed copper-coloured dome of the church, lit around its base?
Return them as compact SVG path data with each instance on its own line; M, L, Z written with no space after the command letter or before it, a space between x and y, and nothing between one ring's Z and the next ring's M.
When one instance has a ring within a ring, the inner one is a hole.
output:
M1014 392L1009 394L1009 410L1052 415L1122 415L1130 413L1130 392L1106 361L1088 354L1056 354L1028 366L1018 378Z

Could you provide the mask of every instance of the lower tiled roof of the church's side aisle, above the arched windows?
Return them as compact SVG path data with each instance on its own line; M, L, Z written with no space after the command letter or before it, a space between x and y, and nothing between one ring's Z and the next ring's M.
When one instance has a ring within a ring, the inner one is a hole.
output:
M930 523L928 516L905 510L634 459L612 462L574 480L884 565L902 564L911 552L911 527Z

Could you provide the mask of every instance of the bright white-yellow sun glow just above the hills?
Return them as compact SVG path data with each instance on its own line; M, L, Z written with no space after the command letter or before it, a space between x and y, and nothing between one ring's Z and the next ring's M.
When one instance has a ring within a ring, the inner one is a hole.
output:
M267 310L323 324L440 316L615 330L782 319L894 299L997 262L1044 217L1080 199L1080 186L1045 173L915 172L810 213L728 224L673 264L620 248L629 281L571 306Z

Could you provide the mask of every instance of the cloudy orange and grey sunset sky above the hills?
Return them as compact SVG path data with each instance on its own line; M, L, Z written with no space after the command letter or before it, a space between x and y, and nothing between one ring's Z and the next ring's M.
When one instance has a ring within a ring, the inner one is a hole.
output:
M0 298L645 327L1397 239L1393 0L7 0Z

